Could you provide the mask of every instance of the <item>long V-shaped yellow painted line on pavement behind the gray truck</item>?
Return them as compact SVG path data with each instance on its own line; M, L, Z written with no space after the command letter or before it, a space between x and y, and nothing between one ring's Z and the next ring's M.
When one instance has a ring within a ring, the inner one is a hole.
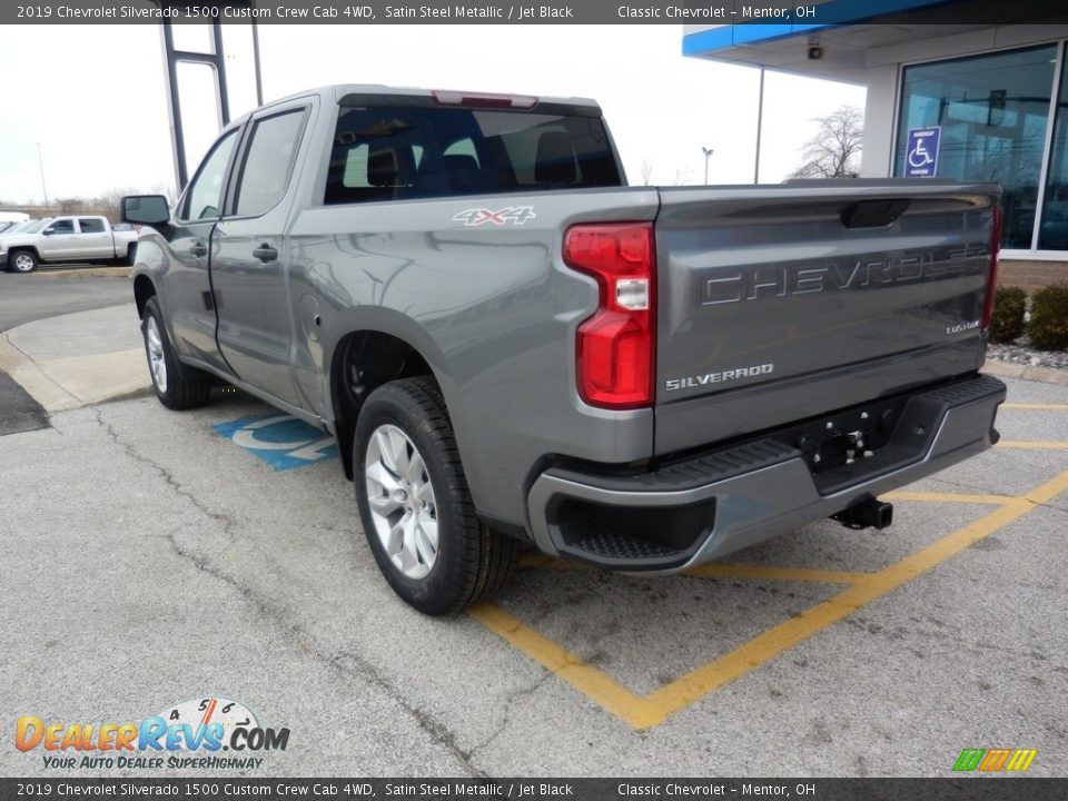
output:
M1068 492L1068 471L1019 497L986 496L990 500L996 498L993 502L998 507L975 523L947 534L881 571L856 574L857 581L833 597L756 635L730 653L686 673L644 698L632 693L604 672L496 606L478 606L471 611L471 615L527 656L556 673L604 710L624 720L634 729L649 729L659 725L728 682L769 662L783 651L848 617L872 601L888 595L917 576L937 567L965 548L1019 520L1036 506L1046 504L1065 492Z

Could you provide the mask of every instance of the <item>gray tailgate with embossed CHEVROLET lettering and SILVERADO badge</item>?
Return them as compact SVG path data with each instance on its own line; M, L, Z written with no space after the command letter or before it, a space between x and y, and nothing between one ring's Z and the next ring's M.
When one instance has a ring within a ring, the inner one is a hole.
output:
M660 191L656 454L981 366L998 187Z

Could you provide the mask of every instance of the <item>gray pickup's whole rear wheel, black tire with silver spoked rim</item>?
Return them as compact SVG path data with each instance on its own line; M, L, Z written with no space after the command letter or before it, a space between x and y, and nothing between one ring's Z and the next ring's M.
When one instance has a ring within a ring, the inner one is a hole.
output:
M353 448L364 533L397 595L441 615L501 590L520 544L475 515L445 402L432 380L404 378L372 393Z

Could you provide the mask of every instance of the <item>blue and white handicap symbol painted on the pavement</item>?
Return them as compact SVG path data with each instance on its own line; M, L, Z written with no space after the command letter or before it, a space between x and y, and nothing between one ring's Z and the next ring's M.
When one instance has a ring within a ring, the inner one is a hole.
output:
M338 456L334 437L293 415L255 415L212 427L277 471L307 467Z

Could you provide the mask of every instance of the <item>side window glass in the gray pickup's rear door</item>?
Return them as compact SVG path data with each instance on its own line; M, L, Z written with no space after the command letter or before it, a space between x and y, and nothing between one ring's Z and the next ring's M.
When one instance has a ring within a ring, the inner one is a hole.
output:
M237 190L238 217L260 215L286 194L303 130L304 109L256 122Z

